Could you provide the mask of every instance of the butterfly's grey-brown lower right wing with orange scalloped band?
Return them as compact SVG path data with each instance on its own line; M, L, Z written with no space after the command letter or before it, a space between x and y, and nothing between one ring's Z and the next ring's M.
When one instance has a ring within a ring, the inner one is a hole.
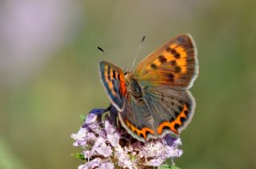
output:
M178 135L190 123L195 102L189 91L161 86L147 88L144 92L153 112L157 137L162 137L168 132Z

